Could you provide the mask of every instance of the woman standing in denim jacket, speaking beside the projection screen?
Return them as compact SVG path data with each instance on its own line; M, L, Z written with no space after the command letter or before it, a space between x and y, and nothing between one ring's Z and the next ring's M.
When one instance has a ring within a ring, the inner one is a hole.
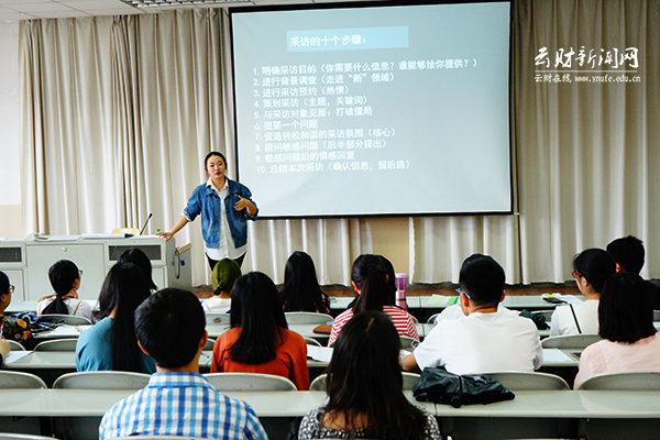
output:
M169 240L201 215L201 233L211 271L224 257L241 265L248 251L248 220L256 220L258 209L252 201L250 189L224 175L227 160L222 153L207 154L204 169L209 176L207 183L193 190L184 213L172 230L156 235Z

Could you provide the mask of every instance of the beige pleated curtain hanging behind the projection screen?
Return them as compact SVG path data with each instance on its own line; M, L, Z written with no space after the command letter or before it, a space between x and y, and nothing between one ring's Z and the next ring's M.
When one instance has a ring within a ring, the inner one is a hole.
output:
M457 282L462 261L482 252L508 283L561 283L575 253L625 234L646 242L644 275L658 276L659 2L512 4L516 215L408 219L397 232L410 282ZM206 180L208 151L226 152L235 176L228 32L226 9L22 22L25 230L108 232L153 213L155 233ZM637 47L640 82L536 80L541 47L581 46ZM344 285L353 258L374 251L363 219L262 220L250 238L243 270L276 283L295 250L312 256L322 284ZM176 240L193 243L194 283L206 283L199 226Z

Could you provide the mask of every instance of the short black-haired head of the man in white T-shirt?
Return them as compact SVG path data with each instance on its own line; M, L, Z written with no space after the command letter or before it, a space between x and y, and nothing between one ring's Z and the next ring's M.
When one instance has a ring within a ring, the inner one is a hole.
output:
M499 304L506 275L492 256L472 254L463 262L459 285L476 304Z

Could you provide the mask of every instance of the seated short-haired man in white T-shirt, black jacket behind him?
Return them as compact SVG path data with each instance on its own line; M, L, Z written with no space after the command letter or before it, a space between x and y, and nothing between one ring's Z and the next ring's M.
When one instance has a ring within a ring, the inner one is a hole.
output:
M457 289L465 316L439 322L404 359L404 370L444 366L468 374L539 369L543 350L535 323L497 310L504 280L504 270L491 256L469 256Z

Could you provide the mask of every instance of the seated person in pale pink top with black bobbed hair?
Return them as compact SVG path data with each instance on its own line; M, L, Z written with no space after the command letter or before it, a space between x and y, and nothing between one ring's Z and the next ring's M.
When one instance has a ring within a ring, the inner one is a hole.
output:
M582 352L575 389L601 373L660 371L660 338L651 304L651 293L639 275L619 272L607 279L598 304L603 340Z

